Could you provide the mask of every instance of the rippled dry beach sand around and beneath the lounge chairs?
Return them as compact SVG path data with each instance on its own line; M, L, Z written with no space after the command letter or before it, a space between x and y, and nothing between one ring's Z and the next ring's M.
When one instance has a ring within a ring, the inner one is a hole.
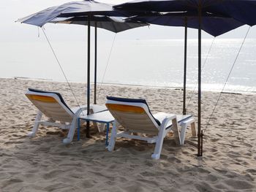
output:
M196 157L196 139L188 131L182 147L165 138L156 161L154 145L118 139L110 153L96 131L86 139L82 130L80 141L67 146L67 132L58 128L41 127L30 139L37 110L24 95L27 88L59 91L76 106L67 83L0 79L0 191L256 191L256 95L222 95L205 132L203 158ZM86 86L72 88L86 104ZM106 95L146 98L152 112L182 111L179 90L103 85L99 104ZM203 92L203 128L218 96ZM196 117L196 96L188 112Z

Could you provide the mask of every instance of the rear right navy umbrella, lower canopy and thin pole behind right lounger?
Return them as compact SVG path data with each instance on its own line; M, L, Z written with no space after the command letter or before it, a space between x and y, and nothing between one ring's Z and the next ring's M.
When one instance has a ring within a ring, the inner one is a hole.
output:
M132 18L127 18L129 21L140 21L146 22L156 25L162 26L184 26L184 95L183 95L183 114L186 115L186 87L187 87L187 28L197 28L198 20L197 20L197 12L168 12L165 14L161 13L151 13L146 15L138 15ZM208 34L211 34L214 37L217 37L221 34L224 34L227 31L230 31L239 26L243 26L244 24L234 20L233 18L228 18L224 15L210 14L208 12L203 13L203 18L205 19L206 26L203 26L203 31L206 31ZM218 28L214 28L214 30L210 30L207 28L207 23L215 23L219 25L225 25L225 28L219 30ZM232 23L232 25L228 24Z

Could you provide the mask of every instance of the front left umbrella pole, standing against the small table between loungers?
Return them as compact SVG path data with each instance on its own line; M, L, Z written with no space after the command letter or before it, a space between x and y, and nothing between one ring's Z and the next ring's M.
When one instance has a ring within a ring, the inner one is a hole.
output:
M88 44L87 44L87 115L90 114L90 56L91 56L91 23L90 23L90 15L88 15ZM90 122L86 121L86 137L90 137Z

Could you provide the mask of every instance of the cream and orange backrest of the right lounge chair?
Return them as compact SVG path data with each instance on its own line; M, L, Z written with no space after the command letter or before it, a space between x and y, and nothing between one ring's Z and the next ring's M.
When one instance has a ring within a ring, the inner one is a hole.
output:
M135 133L158 134L160 123L151 114L144 99L124 99L107 96L106 106L126 130Z

